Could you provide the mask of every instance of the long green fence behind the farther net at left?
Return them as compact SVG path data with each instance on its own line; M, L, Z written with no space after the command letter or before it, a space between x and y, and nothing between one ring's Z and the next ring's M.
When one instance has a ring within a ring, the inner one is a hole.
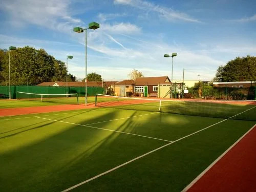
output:
M16 93L28 92L39 94L66 94L66 87L45 87L45 86L11 86L11 98L16 99ZM77 93L78 97L86 94L85 87L68 87L68 93ZM87 95L95 96L95 94L104 94L102 87L87 87ZM9 86L0 86L0 98L9 98Z

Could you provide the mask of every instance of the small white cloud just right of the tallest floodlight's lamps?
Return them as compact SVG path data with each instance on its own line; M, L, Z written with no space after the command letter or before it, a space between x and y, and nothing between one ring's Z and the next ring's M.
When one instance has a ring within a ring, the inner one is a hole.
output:
M114 25L102 24L101 28L103 31L110 33L123 33L123 34L134 34L140 33L141 28L130 23L118 23Z

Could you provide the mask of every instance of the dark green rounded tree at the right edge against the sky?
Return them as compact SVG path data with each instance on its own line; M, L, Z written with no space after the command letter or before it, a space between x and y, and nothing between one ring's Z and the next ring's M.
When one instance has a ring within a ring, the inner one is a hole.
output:
M237 57L228 61L225 66L220 66L215 75L214 81L244 81L256 80L256 57Z

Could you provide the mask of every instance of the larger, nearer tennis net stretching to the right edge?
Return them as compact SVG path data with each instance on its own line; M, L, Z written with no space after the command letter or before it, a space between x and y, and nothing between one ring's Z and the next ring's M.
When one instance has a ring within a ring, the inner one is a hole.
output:
M96 94L95 105L123 110L256 121L256 101L164 100Z

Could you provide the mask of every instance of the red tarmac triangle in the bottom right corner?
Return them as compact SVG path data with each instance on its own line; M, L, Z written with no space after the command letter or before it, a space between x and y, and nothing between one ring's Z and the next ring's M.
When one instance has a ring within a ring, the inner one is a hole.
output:
M256 125L187 191L256 191Z

